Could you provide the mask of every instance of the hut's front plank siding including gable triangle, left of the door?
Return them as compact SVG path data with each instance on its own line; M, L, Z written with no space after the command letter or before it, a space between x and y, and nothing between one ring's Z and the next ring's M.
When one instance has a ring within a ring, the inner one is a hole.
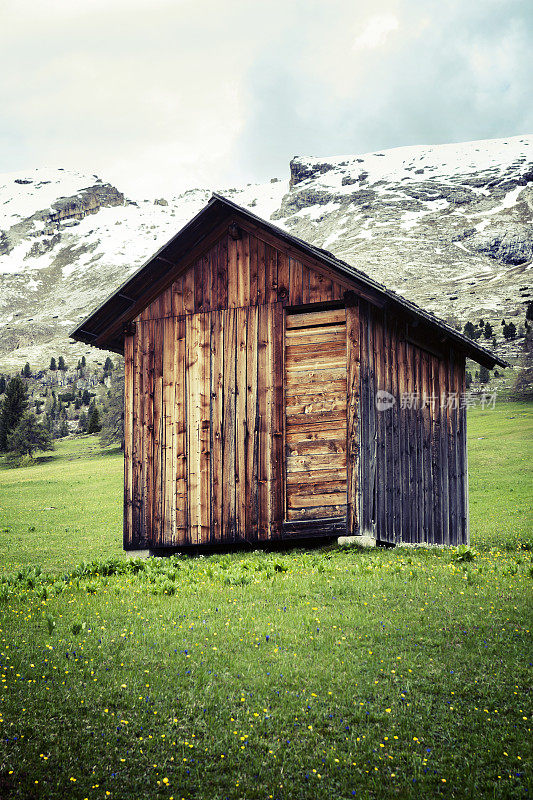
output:
M282 535L283 306L344 290L243 230L139 315L127 337L126 548Z

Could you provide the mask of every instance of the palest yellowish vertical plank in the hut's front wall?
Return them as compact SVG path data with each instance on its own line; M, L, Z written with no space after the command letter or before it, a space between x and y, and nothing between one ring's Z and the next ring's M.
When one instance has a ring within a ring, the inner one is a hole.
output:
M187 347L187 527L189 541L200 541L200 315L185 318Z

